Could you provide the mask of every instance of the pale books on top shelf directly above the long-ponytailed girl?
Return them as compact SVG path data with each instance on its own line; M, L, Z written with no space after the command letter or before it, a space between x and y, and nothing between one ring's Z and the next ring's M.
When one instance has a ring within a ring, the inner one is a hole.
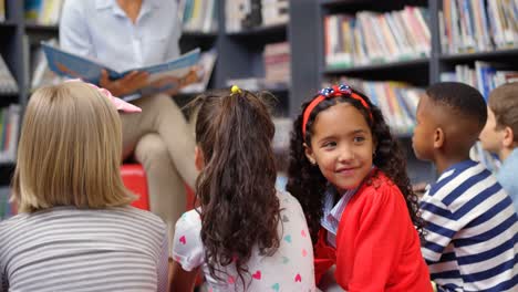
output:
M286 24L289 20L289 1L227 0L225 18L227 32Z

